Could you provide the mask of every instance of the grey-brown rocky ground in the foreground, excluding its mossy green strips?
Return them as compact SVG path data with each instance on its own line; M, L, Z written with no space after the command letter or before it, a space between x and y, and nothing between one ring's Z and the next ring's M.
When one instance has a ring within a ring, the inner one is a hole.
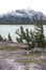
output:
M18 51L17 51L18 52ZM0 51L0 70L46 70L46 60L40 62L16 62L15 60L32 58L35 60L46 59L46 55L22 56L16 52Z

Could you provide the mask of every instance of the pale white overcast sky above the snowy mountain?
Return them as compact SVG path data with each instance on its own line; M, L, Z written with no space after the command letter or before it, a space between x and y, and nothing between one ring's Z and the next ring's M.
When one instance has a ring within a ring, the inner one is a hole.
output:
M46 15L46 0L0 0L0 14L18 9L31 9Z

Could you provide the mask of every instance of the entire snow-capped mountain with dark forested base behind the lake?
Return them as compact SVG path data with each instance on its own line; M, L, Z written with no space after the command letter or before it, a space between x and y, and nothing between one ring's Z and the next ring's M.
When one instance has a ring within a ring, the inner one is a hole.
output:
M33 25L42 16L46 24L46 16L33 10L16 10L0 15L0 25Z

